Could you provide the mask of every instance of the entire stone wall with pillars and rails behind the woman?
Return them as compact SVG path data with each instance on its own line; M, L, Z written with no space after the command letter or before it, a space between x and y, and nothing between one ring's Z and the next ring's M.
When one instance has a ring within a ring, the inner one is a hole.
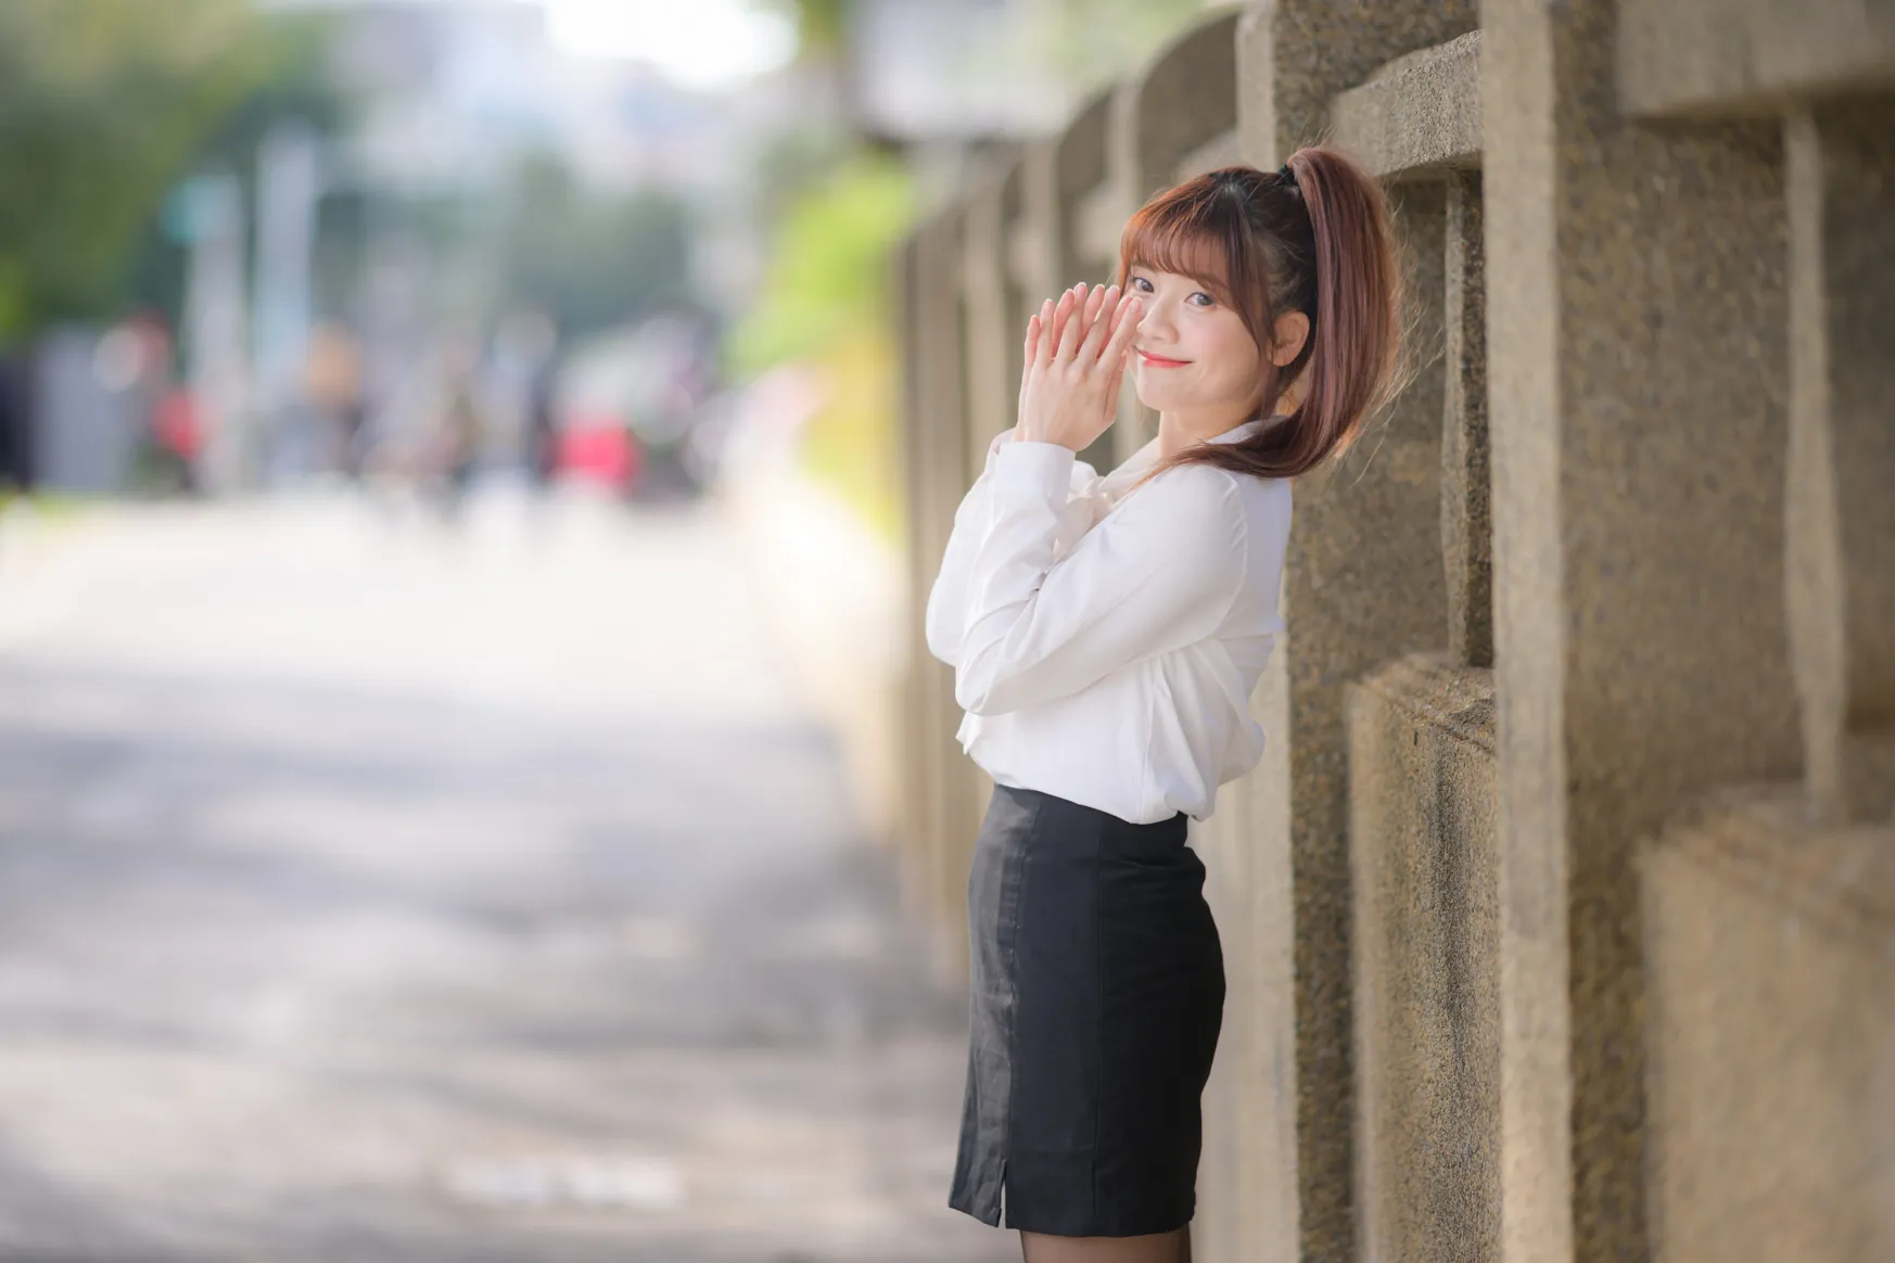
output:
M1025 312L1224 161L1326 138L1397 208L1408 388L1298 483L1270 746L1194 831L1200 1261L1895 1254L1886 8L1249 4L908 242L900 837L957 973L991 786L919 600Z

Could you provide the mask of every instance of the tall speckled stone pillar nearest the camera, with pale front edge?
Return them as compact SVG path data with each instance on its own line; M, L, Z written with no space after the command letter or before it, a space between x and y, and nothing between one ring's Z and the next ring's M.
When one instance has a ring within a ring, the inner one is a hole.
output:
M1609 4L1484 15L1505 1250L1641 1259L1632 841L1800 761L1781 146L1628 123Z

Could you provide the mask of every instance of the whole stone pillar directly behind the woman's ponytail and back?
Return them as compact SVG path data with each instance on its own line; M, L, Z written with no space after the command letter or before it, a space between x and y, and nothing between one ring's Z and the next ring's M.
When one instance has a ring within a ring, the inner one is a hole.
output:
M1253 6L1237 32L1237 117L1245 161L1273 169L1332 129L1330 102L1395 57L1476 25L1472 4L1296 0ZM1273 1091L1253 1113L1266 1134L1243 1155L1268 1193L1245 1225L1251 1257L1353 1259L1357 1252L1355 1074L1351 1066L1351 858L1344 682L1412 649L1448 644L1440 551L1442 239L1438 182L1395 191L1419 324L1419 369L1357 447L1298 479L1285 564L1290 632L1258 685L1272 733L1253 795L1253 1028ZM1275 937L1275 943L1268 939ZM1289 1204L1285 1204L1289 1202Z

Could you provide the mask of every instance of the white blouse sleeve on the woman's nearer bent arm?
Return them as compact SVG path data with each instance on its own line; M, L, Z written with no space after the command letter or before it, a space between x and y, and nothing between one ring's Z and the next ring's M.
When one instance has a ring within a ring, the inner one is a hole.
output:
M955 667L963 710L1069 697L1196 644L1243 587L1243 504L1236 481L1207 466L1152 479L1056 557L1071 462L1057 443L1008 443L993 456Z

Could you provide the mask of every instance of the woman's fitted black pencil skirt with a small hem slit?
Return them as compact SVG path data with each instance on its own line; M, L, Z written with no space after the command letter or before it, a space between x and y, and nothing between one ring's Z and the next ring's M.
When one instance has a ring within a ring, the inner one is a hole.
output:
M1190 820L995 786L968 873L972 1024L948 1204L1057 1236L1196 1210L1224 954Z

